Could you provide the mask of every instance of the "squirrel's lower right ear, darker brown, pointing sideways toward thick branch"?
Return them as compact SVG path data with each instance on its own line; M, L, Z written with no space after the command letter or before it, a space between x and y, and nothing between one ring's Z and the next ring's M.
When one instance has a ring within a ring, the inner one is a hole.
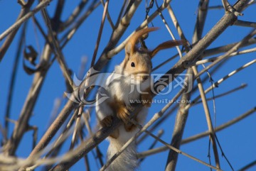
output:
M186 45L186 40L169 40L169 41L166 41L164 43L161 43L154 50L152 50L151 53L149 53L149 55L152 58L160 50L164 50L164 49L168 49L168 48L173 48L174 46L177 46L177 45Z

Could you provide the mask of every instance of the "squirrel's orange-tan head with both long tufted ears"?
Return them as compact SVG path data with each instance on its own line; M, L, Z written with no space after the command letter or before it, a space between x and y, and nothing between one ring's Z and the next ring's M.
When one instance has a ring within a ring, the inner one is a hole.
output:
M136 43L142 35L151 31L156 31L159 28L144 28L137 31L129 38L125 45L125 57L122 62L124 75L131 75L139 82L144 82L149 78L152 69L151 59L159 52L166 48L172 48L176 45L183 45L183 40L170 40L158 45L154 50L147 50L145 48L137 48Z

